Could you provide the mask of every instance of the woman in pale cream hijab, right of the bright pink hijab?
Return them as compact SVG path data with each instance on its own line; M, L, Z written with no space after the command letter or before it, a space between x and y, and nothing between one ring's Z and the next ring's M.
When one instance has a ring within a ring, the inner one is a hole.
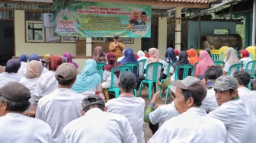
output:
M227 75L229 72L229 67L234 64L240 63L238 57L235 54L234 48L229 48L226 50L226 62L223 68L223 75ZM231 75L233 75L236 71L236 68L232 68Z

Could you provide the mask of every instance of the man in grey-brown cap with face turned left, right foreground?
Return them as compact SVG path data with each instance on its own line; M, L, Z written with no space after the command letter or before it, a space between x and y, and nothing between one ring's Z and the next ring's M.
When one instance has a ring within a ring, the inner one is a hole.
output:
M198 78L171 81L176 87L175 108L179 116L166 121L149 142L225 142L226 128L200 108L207 90Z

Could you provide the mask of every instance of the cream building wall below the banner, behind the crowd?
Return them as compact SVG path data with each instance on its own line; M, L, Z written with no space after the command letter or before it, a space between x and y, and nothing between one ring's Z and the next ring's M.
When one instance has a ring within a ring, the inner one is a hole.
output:
M30 55L37 53L39 56L44 56L46 53L62 55L64 52L70 52L72 56L76 56L76 43L26 43L25 40L25 16L24 11L14 11L14 37L15 49L14 56L21 56L22 54ZM125 47L130 47L133 52L141 49L141 38L134 38L133 44L124 44Z

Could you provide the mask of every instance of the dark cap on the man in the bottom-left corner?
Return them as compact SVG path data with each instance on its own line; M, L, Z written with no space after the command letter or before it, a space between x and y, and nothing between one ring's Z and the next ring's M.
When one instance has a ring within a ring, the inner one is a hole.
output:
M18 82L9 82L0 88L0 96L15 102L22 102L30 99L30 91L23 84Z

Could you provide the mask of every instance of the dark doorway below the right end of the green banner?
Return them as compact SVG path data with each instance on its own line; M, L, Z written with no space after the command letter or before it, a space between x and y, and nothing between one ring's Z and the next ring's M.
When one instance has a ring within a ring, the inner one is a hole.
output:
M149 48L155 47L158 48L158 25L151 25L151 37L150 38L141 38L142 40L142 51L149 52Z

